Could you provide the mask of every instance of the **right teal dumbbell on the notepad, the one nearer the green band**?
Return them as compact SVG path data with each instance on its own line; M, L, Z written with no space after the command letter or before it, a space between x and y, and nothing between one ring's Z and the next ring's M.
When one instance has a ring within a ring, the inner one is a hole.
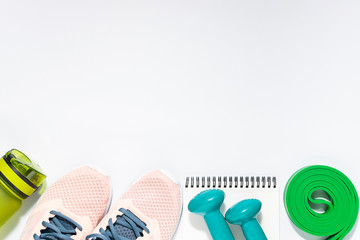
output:
M256 216L261 209L257 199L246 199L232 206L225 214L226 220L240 225L246 240L267 240Z

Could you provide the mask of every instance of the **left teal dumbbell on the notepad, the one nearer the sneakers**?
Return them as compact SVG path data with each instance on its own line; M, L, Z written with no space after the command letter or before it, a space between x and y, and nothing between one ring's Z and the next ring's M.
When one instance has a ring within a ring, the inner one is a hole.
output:
M218 189L205 190L196 195L188 205L190 212L204 217L214 240L234 240L229 225L220 212L225 193Z

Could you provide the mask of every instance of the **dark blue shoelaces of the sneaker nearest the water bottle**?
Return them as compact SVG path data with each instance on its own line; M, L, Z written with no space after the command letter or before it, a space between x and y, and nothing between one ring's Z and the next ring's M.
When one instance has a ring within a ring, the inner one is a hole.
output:
M72 236L76 235L76 228L82 231L82 227L77 222L64 214L57 211L50 213L55 216L50 218L49 222L42 222L45 229L41 230L40 236L34 234L35 240L73 240Z

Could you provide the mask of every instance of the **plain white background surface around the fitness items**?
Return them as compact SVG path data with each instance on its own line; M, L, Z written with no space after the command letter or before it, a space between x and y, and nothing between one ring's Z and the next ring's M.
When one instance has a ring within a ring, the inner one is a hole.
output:
M2 0L0 152L24 151L50 184L100 166L114 201L156 168L275 175L282 192L297 169L326 164L360 189L359 12L359 1ZM302 239L280 204L281 239ZM29 212L0 239L17 239Z

